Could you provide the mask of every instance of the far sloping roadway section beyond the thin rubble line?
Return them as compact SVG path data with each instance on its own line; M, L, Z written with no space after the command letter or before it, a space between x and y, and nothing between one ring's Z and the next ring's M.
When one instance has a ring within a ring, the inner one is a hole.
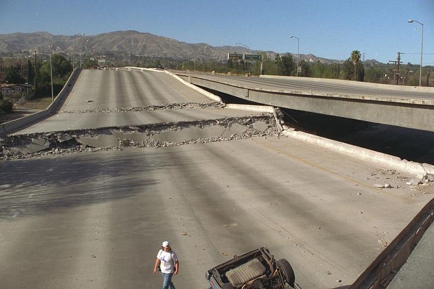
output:
M211 101L165 73L83 70L60 110L205 102Z

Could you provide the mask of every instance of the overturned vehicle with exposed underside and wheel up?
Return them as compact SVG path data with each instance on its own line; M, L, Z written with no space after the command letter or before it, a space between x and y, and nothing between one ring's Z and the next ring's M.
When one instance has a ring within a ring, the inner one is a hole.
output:
M205 278L211 289L301 289L286 259L276 261L261 247L209 269Z

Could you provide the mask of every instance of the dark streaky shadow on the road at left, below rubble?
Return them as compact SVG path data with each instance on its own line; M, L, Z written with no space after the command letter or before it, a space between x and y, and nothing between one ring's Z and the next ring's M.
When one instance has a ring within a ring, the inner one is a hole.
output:
M82 154L4 161L0 165L0 218L128 198L156 183L152 172L164 163L158 154Z

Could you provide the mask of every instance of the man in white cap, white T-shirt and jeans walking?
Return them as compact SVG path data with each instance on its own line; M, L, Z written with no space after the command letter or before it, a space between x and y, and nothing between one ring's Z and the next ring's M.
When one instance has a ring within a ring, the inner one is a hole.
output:
M172 276L178 274L179 262L176 253L168 241L164 241L155 261L154 274L157 274L157 268L160 267L163 274L163 289L175 289L172 283Z

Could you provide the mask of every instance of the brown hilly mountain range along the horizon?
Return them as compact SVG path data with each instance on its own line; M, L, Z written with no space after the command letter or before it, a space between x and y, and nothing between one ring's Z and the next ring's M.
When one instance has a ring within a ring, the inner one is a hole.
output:
M49 54L50 44L52 44L53 53L72 54L75 49L76 54L84 53L92 56L117 53L181 59L227 59L228 53L261 53L240 46L214 47L206 43L192 44L151 33L127 30L97 35L76 34L75 36L52 35L48 32L0 34L0 55L30 54L34 50L38 53ZM265 53L271 57L277 54L272 51ZM291 54L294 58L297 57L297 54ZM313 54L300 54L299 56L300 61L320 61L328 64L342 62L342 60L326 59Z

